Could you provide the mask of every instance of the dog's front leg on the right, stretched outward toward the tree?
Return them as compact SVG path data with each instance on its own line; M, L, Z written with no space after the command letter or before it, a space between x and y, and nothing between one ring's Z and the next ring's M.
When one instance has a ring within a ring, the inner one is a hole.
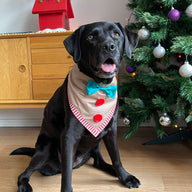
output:
M122 166L119 151L116 142L116 128L109 131L109 133L103 138L105 146L110 155L113 167L116 171L117 177L120 179L123 185L128 188L138 188L140 185L140 181L125 171Z

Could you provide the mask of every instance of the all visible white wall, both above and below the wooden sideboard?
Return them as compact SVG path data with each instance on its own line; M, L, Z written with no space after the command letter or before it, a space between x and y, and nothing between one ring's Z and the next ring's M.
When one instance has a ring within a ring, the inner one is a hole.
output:
M32 14L35 0L1 0L0 33L36 32L38 15ZM126 24L128 0L71 0L75 18L71 29L96 21ZM39 126L42 109L0 109L0 126Z

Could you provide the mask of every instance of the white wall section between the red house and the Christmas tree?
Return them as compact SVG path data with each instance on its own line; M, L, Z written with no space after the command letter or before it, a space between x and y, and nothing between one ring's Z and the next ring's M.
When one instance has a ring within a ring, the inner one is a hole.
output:
M120 22L126 25L128 0L72 0L75 18L71 19L71 28L96 21Z

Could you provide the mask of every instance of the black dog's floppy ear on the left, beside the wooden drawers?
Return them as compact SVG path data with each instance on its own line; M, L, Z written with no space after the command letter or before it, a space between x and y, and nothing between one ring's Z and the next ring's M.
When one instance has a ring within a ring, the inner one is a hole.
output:
M78 63L81 59L80 40L83 30L84 26L79 27L63 41L66 50L71 56L73 56L73 60L75 61L75 63Z

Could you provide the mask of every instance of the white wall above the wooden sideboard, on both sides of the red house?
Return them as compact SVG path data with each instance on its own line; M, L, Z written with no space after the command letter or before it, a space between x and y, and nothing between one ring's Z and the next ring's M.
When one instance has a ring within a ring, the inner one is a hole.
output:
M32 14L34 2L35 0L1 0L0 33L38 31L38 15ZM71 3L75 15L70 20L72 30L95 21L126 24L128 0L71 0Z

